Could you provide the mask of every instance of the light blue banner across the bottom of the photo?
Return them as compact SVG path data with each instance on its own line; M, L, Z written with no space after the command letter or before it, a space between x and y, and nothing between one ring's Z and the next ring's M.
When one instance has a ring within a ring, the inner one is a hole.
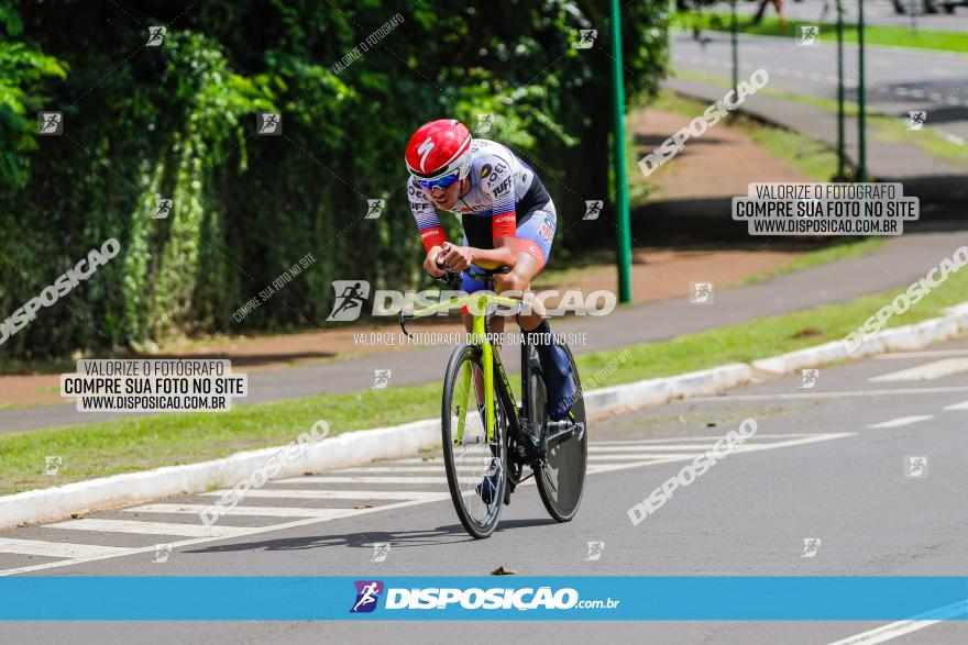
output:
M9 577L0 620L966 620L968 577Z

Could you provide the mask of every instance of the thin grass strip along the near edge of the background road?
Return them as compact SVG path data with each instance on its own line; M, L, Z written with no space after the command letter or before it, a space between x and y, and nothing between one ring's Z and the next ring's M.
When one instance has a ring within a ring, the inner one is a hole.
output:
M721 86L724 88L732 87L730 81L725 78L721 78L718 76L712 76L708 74L703 74L700 71L680 69L680 70L675 71L675 76L679 78L685 78L689 80L696 80L700 82L708 82L708 84L717 85L717 86ZM768 88L768 87L758 90L757 93L763 94L767 97L776 97L778 99L785 99L788 101L796 101L799 103L813 105L814 108L820 108L821 110L827 110L828 112L833 112L833 113L837 112L837 101L835 101L834 99L824 99L821 97L806 97L803 94L798 94L794 92L789 92L785 90L778 90L778 89ZM684 100L691 100L691 99L684 99ZM703 104L698 101L695 101L695 104L703 105L703 109L705 109L705 107L706 107L705 104ZM693 112L693 115L700 114L700 113L702 113L702 112ZM845 101L844 113L847 116L856 116L858 113L857 103L854 103L850 101ZM735 116L736 116L736 114L734 113L728 119L734 119ZM743 119L744 119L744 116L741 116L741 113L740 113L740 120L743 120ZM747 119L747 120L757 122L757 120L754 120L754 119ZM726 121L726 122L732 123L732 121ZM882 114L879 112L871 112L870 110L868 110L868 112L867 112L867 125L868 125L869 135L875 141L901 141L903 143L906 143L910 145L915 145L915 146L920 147L925 153L927 153L930 156L935 157L936 159L947 162L952 165L959 166L961 168L968 168L968 155L965 154L965 147L960 146L958 144L952 143L950 141L948 141L947 138L945 138L944 136L938 134L938 132L935 131L930 125L925 125L921 130L908 130L906 124L901 119L898 119L897 116L891 116L889 114ZM776 126L773 126L773 127L776 130L778 130L779 132L790 132L790 131L783 130L781 127L776 127ZM795 134L795 133L793 133L793 134ZM796 135L796 136L802 136L802 135ZM806 137L803 137L803 138L809 142L814 141L814 140L810 140ZM782 145L785 145L783 143L782 136L778 136L778 138L772 144L769 141L766 141L763 143L771 151L773 151L776 148L781 148ZM820 144L820 143L815 142L813 145L824 145L824 144ZM827 148L827 149L829 149L829 148ZM780 151L780 153L782 153L782 151ZM780 153L778 153L778 154L780 154ZM789 154L790 153L788 151L787 156L789 156ZM833 151L829 152L829 155L831 155L831 157L833 157L833 168L836 170L836 155L834 154ZM799 155L794 154L794 157L795 156L799 156ZM829 159L825 159L823 163L811 162L811 166L813 166L813 165L823 166L824 164L827 164L827 163L829 163ZM831 171L824 178L824 180L827 180L831 175L833 175L833 171ZM812 176L815 176L815 175L812 175Z

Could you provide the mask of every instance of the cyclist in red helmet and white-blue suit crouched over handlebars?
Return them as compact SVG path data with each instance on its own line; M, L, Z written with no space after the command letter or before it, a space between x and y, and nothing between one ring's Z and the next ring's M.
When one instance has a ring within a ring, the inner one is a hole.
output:
M410 210L427 252L424 269L440 277L443 267L463 271L470 266L508 266L510 273L494 276L497 292L528 291L551 254L557 223L554 203L535 170L504 145L472 138L457 119L421 125L407 144L406 162L411 176L407 182ZM447 241L437 209L461 216L464 236L460 245ZM484 288L483 281L461 276L462 291ZM561 421L574 402L574 388L568 356L549 341L551 327L542 313L521 313L517 321L538 351L548 415ZM503 318L493 323L494 331L503 331ZM471 331L471 325L465 311L464 326Z

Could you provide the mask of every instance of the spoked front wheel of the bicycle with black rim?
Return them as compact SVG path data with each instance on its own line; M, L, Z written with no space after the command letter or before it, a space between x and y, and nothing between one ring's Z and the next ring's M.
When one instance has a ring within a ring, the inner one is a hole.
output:
M454 349L443 379L443 463L458 518L477 540L488 537L497 526L507 487L507 421L495 392L494 437L488 442L483 383L481 347Z

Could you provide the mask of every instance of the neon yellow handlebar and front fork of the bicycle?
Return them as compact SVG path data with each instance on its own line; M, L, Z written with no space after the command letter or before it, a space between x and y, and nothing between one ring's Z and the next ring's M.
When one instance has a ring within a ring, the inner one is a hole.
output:
M417 309L408 315L407 318L426 318L428 315L433 315L439 311L446 311L449 309L453 309L457 307L468 305L468 311L471 313L473 318L473 338L476 343L481 344L481 362L484 364L484 400L493 401L494 400L494 346L491 344L491 338L487 337L485 330L485 315L475 314L473 310L487 312L488 308L492 304L501 304L508 308L512 308L514 313L519 313L521 309L526 305L520 300L515 300L514 298L506 298L504 296L491 296L487 293L482 293L480 296L471 294L471 296L461 296L451 298L447 302L438 302L436 304L431 304L430 307L425 307L422 309ZM457 440L461 441L464 435L464 422L468 414L468 398L469 398L469 389L471 381L471 369L470 366L464 366L463 372L461 374L461 394L460 394L460 409L461 416L458 419L458 436ZM484 415L484 427L487 437L487 443L494 441L494 409L493 405L485 405L487 412Z

